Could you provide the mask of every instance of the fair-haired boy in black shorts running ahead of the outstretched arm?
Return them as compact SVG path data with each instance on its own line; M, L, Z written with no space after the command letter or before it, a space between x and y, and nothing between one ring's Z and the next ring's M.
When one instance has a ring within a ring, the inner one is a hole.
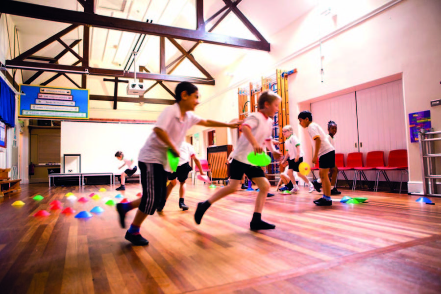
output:
M262 221L262 210L268 191L270 190L270 182L260 167L252 166L248 162L247 156L250 152L262 153L264 151L263 144L265 143L274 158L280 158L281 154L275 150L271 140L272 117L278 111L280 101L280 96L270 91L265 91L260 95L257 102L259 111L248 115L242 125L242 135L234 150L233 161L230 165L230 182L209 199L197 204L195 212L195 221L197 224L200 224L204 213L214 202L236 192L241 184L242 176L245 173L248 179L252 180L257 184L257 187L259 187L253 218L250 222L251 230L268 230L275 228L275 225Z

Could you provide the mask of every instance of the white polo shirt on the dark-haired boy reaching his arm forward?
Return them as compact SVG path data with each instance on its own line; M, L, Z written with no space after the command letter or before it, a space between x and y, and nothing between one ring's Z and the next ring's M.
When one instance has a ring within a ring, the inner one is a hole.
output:
M172 141L177 148L180 148L187 134L187 130L200 121L201 118L191 111L187 111L181 120L179 104L174 103L164 109L159 115L155 127L166 131L170 141ZM168 146L162 142L153 131L139 151L138 160L145 163L162 164L164 170L171 172L167 162L167 148Z

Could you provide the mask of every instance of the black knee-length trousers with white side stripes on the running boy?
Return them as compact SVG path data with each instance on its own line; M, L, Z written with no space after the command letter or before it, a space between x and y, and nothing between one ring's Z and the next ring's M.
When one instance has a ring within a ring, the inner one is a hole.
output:
M147 215L153 215L156 207L165 203L167 192L167 172L162 164L138 162L141 170L141 184L143 196L139 204L139 210Z

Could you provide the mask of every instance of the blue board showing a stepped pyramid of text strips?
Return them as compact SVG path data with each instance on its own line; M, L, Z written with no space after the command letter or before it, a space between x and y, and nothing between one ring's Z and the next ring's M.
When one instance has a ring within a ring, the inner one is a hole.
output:
M20 85L19 117L89 119L89 90Z

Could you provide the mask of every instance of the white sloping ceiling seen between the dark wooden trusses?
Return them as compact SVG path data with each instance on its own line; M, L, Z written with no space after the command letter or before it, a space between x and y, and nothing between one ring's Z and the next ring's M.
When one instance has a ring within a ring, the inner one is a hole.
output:
M22 0L22 2L35 3L63 9L82 11L82 6L76 0ZM123 11L119 11L123 7ZM177 26L189 29L196 27L195 0L98 0L96 13L137 21L153 20L154 24ZM245 17L257 28L257 30L271 41L271 35L277 33L297 18L305 14L315 4L315 0L243 0L238 8ZM204 19L208 19L224 6L222 0L204 1ZM106 7L106 8L104 8ZM12 16L14 25L17 27L20 51L24 52L38 43L46 40L55 33L61 31L68 24L29 19ZM208 30L216 22L206 26ZM213 31L244 39L255 40L255 37L246 29L241 21L232 13L221 22ZM91 54L90 66L123 69L130 56L139 34L121 32L93 27L91 30ZM82 27L73 30L62 37L63 41L70 44L75 39L82 39ZM178 42L185 49L190 49L195 42ZM54 57L64 47L54 42L52 45L40 50L35 55ZM82 42L74 48L82 54ZM246 54L249 49L237 49L226 46L201 44L193 52L196 61L201 64L212 76L220 73L228 65ZM167 40L166 41L166 64L180 56L180 52ZM72 64L76 58L67 53L60 60L60 64ZM137 65L144 65L152 72L159 71L159 37L146 36L145 42L138 54ZM133 66L130 69L133 71ZM34 72L24 71L24 79ZM189 61L184 61L173 74L204 77ZM34 83L41 83L47 76L53 73L45 73Z

